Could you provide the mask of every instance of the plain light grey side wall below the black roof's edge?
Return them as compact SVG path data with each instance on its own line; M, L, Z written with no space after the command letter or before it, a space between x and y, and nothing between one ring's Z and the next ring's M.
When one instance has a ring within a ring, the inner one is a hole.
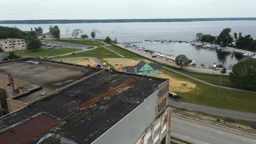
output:
M139 141L157 117L157 98L158 91L155 91L129 115L121 119L92 143L134 144Z

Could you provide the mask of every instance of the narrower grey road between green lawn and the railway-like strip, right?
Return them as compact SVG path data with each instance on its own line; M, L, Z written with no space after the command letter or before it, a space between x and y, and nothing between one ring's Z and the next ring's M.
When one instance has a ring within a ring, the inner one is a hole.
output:
M240 112L240 111L232 111L232 110L225 110L225 109L218 109L215 107L203 106L203 105L196 105L185 103L182 101L174 101L169 99L169 105L182 107L188 110L194 111L201 111L205 113L211 113L213 115L224 116L224 117L231 117L237 119L245 119L247 121L256 121L256 113L248 113L248 112Z

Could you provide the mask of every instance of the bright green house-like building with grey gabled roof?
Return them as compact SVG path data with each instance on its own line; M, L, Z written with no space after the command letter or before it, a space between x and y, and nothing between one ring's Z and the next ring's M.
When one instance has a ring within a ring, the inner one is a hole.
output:
M124 72L138 75L153 75L158 74L158 70L162 69L162 65L158 63L139 62L137 65L125 67Z

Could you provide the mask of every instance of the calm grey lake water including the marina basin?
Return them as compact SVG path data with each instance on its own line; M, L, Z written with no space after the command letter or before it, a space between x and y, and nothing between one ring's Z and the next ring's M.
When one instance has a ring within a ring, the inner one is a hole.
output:
M1 24L0 24L1 25ZM72 37L72 29L79 28L90 36L92 29L96 29L96 38L104 39L107 36L119 42L143 41L144 39L166 39L191 41L195 39L196 33L218 35L222 29L231 28L232 33L241 32L243 35L250 34L256 38L256 21L207 21L207 22L146 22L146 23L72 23L56 24L61 29L61 37ZM18 27L22 31L30 31L31 27L42 27L44 32L48 32L50 25L1 25ZM66 29L69 28L69 33ZM177 56L184 54L190 59L196 60L197 64L222 63L226 65L237 63L241 58L233 54L218 53L215 50L196 48L189 44L170 43L150 43L143 42L143 47L147 49L161 51Z

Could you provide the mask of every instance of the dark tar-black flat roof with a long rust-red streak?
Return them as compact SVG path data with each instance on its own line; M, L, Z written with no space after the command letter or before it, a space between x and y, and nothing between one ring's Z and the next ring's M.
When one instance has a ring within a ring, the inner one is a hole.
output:
M112 74L105 70L0 118L0 137L3 131L14 129L14 125L25 119L44 113L59 119L61 124L28 143L37 143L39 140L48 143L91 143L141 105L165 81L121 72ZM44 121L37 124L44 124ZM49 137L45 138L47 135ZM10 135L10 139L15 137Z

